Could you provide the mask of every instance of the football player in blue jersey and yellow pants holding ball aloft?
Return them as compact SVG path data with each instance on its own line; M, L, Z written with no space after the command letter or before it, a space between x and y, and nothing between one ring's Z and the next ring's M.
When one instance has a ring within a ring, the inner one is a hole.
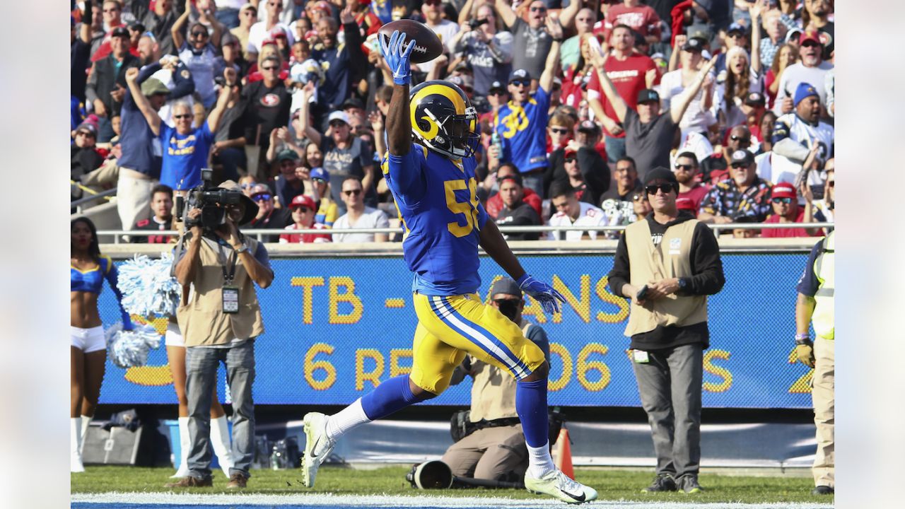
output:
M381 38L381 52L394 80L383 172L405 227L405 263L414 272L418 326L412 372L384 381L337 414L307 414L302 482L314 485L320 464L350 429L442 393L467 353L518 380L516 411L529 450L525 474L529 491L571 504L595 500L593 488L576 483L553 465L547 420L549 365L518 325L478 297L478 246L544 311L558 312L557 301L565 300L553 287L525 273L500 230L487 220L474 177L478 114L464 92L442 81L424 82L409 92L413 47L414 41L406 44L399 31L388 42ZM413 143L413 135L418 143Z

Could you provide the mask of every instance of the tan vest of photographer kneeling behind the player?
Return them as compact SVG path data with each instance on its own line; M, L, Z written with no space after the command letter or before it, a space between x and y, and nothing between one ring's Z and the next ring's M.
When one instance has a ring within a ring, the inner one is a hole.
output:
M521 333L528 337L529 322L521 321ZM515 418L516 381L509 373L492 364L472 357L472 412L469 420L478 422L481 419Z

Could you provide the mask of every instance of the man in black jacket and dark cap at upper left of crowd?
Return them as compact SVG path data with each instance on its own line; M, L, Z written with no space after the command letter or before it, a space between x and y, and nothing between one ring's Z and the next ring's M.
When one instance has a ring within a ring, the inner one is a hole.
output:
M129 53L129 29L125 26L114 28L110 33L110 54L94 62L85 87L85 97L101 119L98 136L101 143L113 137L109 119L122 108L127 89L126 71L138 66L138 57Z

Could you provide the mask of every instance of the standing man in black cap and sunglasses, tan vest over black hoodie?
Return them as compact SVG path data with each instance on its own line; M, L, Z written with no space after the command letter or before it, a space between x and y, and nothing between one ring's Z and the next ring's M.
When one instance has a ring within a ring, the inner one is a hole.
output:
M632 300L625 335L657 455L657 475L643 493L697 493L707 296L726 279L710 228L676 206L672 171L653 168L644 192L653 213L625 228L609 274L610 291Z

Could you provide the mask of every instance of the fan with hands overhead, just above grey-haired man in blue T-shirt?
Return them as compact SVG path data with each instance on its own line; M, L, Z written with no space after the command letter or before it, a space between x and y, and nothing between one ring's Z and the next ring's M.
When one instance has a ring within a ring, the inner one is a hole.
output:
M176 19L170 34L173 36L173 44L178 48L179 60L186 62L186 67L195 78L195 91L201 96L205 109L210 110L217 100L217 92L214 90L214 68L217 48L220 47L220 34L223 34L224 26L215 16L208 15L206 10L202 10L198 21L189 25L184 36L183 30L191 11L191 5L186 2L186 12ZM208 25L211 26L211 31L208 31Z

